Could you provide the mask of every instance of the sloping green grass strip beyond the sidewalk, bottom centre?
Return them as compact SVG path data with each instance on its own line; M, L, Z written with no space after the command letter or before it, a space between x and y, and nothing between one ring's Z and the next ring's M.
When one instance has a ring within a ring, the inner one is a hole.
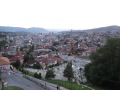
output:
M62 80L46 80L46 81L53 84L59 84L60 86L65 87L69 90L92 90L91 88L69 81L62 81Z

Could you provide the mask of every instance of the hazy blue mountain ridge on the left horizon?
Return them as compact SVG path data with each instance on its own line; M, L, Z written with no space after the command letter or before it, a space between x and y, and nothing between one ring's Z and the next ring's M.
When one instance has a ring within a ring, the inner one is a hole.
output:
M44 28L21 28L21 27L7 27L0 26L0 31L4 32L31 32L31 33L48 33L48 31Z

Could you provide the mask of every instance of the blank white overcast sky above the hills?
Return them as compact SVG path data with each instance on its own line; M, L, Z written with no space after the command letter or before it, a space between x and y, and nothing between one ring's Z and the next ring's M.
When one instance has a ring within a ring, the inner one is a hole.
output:
M0 0L0 26L91 29L120 25L120 0Z

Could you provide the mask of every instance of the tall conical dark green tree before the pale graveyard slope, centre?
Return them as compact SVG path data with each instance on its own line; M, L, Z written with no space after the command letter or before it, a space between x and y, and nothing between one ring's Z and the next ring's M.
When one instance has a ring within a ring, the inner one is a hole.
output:
M72 80L72 78L74 77L74 73L73 73L73 68L72 68L72 62L69 62L63 72L64 77L68 78L69 81Z

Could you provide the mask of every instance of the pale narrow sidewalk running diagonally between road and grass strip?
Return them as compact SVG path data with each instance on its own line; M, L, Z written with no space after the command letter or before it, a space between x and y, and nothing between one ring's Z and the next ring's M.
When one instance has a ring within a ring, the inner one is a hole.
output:
M33 81L37 85L40 85L47 90L57 90L57 85L56 84L52 84L52 83L49 83L49 82L46 82L46 81L43 81L43 80L40 80L40 79L36 79L36 78L28 76L28 75L24 75L23 77ZM59 90L69 90L69 89L66 89L64 87L60 87Z

